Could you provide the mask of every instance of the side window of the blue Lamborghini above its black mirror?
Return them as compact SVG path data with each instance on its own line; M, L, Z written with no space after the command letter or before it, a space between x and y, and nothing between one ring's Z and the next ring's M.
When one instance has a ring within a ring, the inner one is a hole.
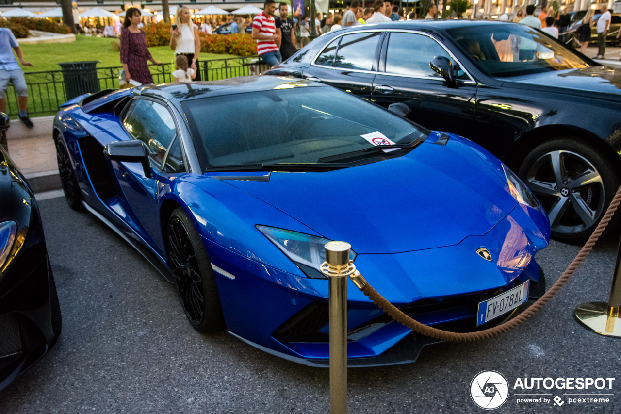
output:
M175 121L168 109L148 99L137 99L123 125L132 137L147 144L151 165L160 169L166 149L176 135Z

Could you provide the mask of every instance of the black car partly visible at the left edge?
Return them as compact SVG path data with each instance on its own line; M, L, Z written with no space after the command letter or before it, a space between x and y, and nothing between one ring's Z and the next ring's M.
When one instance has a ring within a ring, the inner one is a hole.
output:
M61 326L39 206L0 145L0 390L56 343Z

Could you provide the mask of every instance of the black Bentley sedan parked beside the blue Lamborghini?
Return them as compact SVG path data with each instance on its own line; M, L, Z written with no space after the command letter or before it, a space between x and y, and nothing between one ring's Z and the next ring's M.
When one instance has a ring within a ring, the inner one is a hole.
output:
M526 25L365 24L322 35L264 74L401 103L412 121L477 142L519 173L560 241L586 239L621 184L621 71Z

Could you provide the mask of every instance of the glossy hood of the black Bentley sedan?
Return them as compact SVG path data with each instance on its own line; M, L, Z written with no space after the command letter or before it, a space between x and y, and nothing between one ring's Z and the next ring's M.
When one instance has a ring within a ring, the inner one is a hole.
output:
M528 85L566 88L573 90L575 94L591 97L594 92L621 94L621 70L602 66L520 76L514 78L514 81Z

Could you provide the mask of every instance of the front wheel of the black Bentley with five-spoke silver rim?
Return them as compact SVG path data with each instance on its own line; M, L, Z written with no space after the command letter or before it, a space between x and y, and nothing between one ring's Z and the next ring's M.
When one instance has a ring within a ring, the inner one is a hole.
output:
M548 212L551 237L579 243L591 236L615 195L616 171L591 145L558 138L530 152L519 175Z

